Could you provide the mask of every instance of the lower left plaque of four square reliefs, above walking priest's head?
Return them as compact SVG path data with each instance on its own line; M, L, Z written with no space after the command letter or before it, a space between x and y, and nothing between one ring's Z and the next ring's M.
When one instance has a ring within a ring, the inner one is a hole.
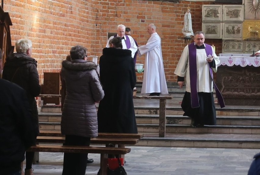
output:
M206 38L222 39L222 23L202 23Z

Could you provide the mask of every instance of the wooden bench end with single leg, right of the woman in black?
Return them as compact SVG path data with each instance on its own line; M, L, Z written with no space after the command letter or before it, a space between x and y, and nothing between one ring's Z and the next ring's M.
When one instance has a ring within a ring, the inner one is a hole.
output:
M164 96L133 96L133 99L160 99L159 105L159 137L164 137L166 133L166 100L172 97Z

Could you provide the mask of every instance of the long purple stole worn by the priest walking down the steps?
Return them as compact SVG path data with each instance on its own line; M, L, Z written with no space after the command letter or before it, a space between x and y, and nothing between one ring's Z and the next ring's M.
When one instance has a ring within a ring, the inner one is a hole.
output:
M188 47L189 47L189 66L190 66L191 107L197 108L197 107L200 107L198 92L197 92L197 51L196 51L196 45L194 44L194 42L189 44ZM207 55L212 55L212 49L211 49L210 45L205 44L205 50L206 50ZM224 99L213 80L213 72L212 72L212 68L210 67L209 63L208 63L208 67L209 67L211 79L213 81L213 85L214 85L214 88L216 91L219 105L221 108L223 108L223 107L225 107Z

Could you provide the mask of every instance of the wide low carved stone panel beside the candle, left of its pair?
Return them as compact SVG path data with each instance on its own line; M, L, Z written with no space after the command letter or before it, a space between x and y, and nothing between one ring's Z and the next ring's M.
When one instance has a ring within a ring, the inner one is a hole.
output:
M222 53L243 52L243 40L222 40Z

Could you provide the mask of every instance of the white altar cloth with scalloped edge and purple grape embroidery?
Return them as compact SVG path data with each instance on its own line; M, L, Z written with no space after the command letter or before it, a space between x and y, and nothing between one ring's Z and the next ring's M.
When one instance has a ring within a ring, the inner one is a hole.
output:
M245 67L247 65L259 67L260 66L260 57L218 57L220 63L217 66L227 65L240 65L241 67Z

